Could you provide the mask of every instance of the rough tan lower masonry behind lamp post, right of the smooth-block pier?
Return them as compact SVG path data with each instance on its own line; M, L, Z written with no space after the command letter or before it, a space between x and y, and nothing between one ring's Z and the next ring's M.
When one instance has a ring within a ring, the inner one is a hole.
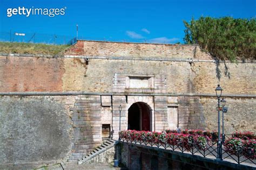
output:
M225 132L231 134L235 131L253 131L256 133L256 101L255 98L226 97L227 113L224 114ZM218 130L217 99L215 97L200 97L206 129ZM222 123L221 123L222 125Z

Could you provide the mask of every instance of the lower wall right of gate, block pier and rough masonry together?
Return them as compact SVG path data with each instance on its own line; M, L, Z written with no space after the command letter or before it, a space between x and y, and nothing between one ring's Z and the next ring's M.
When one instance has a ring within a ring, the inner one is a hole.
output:
M235 131L252 131L255 133L255 98L225 97L225 100L227 101L226 107L228 107L228 111L224 113L225 133L232 134ZM218 105L216 97L181 96L178 103L179 126L181 129L218 131L218 111L216 110Z

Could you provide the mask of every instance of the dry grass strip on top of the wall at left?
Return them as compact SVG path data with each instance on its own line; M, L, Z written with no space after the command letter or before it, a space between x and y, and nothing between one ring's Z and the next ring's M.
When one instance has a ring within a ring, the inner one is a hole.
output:
M69 45L33 44L25 42L0 42L0 53L20 54L49 54L57 53L68 48Z

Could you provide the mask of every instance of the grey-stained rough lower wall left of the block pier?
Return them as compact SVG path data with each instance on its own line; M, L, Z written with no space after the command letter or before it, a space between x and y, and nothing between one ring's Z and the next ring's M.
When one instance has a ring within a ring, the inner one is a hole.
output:
M0 96L0 165L66 160L73 102L72 96Z

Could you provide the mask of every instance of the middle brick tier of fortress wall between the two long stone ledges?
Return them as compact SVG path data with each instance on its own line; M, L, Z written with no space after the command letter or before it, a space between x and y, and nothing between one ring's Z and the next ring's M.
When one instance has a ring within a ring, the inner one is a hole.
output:
M224 94L256 94L255 63L227 62L217 66L203 61L89 59L86 62L83 58L0 56L0 73L0 92L112 93L114 74L119 73L165 77L164 93L214 94L220 83Z

